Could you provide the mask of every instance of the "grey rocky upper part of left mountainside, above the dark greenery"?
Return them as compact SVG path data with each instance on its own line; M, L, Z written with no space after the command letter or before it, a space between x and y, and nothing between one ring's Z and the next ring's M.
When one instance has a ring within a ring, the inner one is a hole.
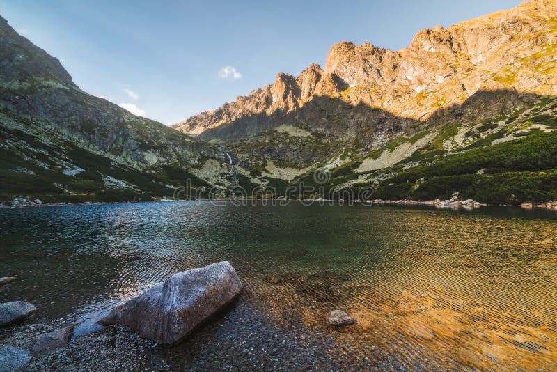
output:
M56 57L20 36L2 17L0 65L0 108L21 123L54 130L140 169L198 165L216 155L212 146L81 91Z

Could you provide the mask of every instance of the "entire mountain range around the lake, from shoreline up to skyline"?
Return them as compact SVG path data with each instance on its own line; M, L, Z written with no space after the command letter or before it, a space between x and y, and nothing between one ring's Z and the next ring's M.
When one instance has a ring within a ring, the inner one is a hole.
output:
M226 196L232 185L271 196L313 185L371 187L379 199L556 200L556 14L557 1L523 3L425 29L398 52L336 44L324 69L278 74L196 116L231 120L191 121L197 137L81 91L0 22L0 201Z

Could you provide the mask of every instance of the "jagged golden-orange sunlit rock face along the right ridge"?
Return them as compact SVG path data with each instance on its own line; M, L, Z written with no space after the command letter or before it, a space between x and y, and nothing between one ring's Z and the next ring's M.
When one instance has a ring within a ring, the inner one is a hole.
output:
M194 135L213 128L203 136L221 138L250 136L294 123L327 132L321 119L335 114L336 103L320 104L319 112L308 120L288 116L314 98L327 97L350 106L366 104L409 119L401 122L404 128L411 121L437 125L439 111L461 105L481 91L554 95L556 15L555 1L538 0L448 29L424 29L409 47L399 51L340 42L329 50L324 70L314 64L297 78L280 73L273 84L173 127ZM492 116L507 113L508 105L496 104L497 99L488 102L473 111ZM511 106L518 105L515 102ZM268 124L272 114L283 115L283 121ZM443 121L461 120L461 114L443 115ZM363 118L362 130L370 130L378 122L370 114ZM223 123L249 128L240 132L215 129Z

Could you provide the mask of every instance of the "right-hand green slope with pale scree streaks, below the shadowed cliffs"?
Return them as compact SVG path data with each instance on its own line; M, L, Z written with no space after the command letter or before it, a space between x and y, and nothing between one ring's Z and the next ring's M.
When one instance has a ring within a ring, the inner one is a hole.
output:
M459 192L461 199L485 203L557 199L557 131L547 132L557 129L556 100L546 98L509 117L469 125L464 144L453 150L444 148L460 129L441 127L429 144L389 168L357 173L364 157L353 157L331 169L326 190L351 187L357 193L373 186L373 199L448 199L453 192ZM415 142L414 137L395 139L366 157L379 157L405 141ZM512 140L497 143L504 137ZM294 182L299 183L320 186L311 172Z

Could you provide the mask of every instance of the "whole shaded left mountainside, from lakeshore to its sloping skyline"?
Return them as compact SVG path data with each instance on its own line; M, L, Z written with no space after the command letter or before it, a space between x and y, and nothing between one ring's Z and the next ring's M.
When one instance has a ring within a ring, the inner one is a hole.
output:
M221 151L82 91L60 61L0 17L0 199L171 196Z

